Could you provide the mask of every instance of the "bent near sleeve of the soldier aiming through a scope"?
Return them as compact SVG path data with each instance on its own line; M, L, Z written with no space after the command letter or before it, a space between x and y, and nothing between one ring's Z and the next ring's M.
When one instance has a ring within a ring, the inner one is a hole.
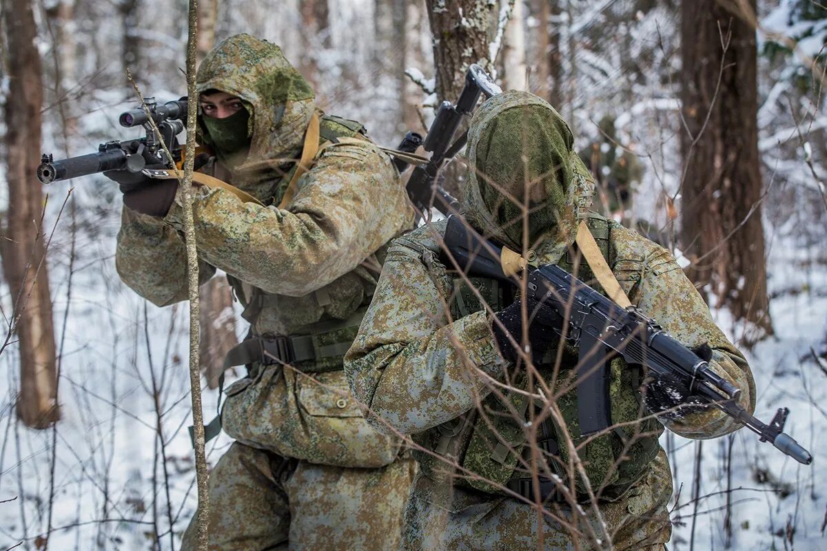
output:
M243 203L222 189L194 197L198 254L265 292L301 297L350 272L410 227L413 209L390 158L335 145L299 178L289 210ZM165 217L181 227L179 200Z

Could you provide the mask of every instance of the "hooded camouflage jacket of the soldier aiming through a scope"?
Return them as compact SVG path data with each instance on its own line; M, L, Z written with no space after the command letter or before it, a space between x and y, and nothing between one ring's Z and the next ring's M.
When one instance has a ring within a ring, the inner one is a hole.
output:
M312 90L278 46L248 35L223 41L203 60L198 92L212 89L241 98L250 115L251 145L241 163L228 167L213 159L203 171L266 207L243 203L220 188L194 188L200 282L216 268L232 276L239 300L248 306L243 316L253 335L314 335L314 349L349 344L356 332L352 320L375 289L385 245L413 223L399 173L366 139L336 143L320 150L292 200L280 209L275 205L316 110ZM341 119L328 117L321 130L334 138L356 134ZM118 273L158 306L187 297L180 203L179 194L162 220L124 207L117 236ZM261 368L252 359L251 377L227 389L224 430L243 444L312 463L390 463L399 443L361 418L347 396L338 354L307 360L296 370L279 364ZM302 374L307 371L318 377Z

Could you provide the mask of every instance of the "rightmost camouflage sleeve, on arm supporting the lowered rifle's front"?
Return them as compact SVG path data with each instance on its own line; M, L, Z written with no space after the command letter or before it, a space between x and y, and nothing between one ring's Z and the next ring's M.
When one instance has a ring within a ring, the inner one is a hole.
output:
M628 276L617 267L614 271L619 274L619 280ZM648 243L639 281L632 287L629 298L644 315L657 321L682 344L691 348L708 344L712 349L710 368L740 388L741 405L750 412L754 410L755 382L747 360L712 321L709 307L672 254ZM742 426L711 406L678 420L662 421L672 432L693 439L716 438Z

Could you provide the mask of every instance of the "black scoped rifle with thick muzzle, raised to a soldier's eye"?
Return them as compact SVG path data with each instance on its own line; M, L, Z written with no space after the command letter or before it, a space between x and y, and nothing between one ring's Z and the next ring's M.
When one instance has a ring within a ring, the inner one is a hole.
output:
M151 177L151 171L145 169L146 166L164 164L171 167L179 162L182 145L179 144L177 136L184 131L183 121L187 120L187 98L158 105L154 97L147 97L145 103L146 111L143 108L133 109L121 113L118 117L121 126L125 128L143 126L146 130L145 137L127 141L108 141L98 146L97 153L69 159L55 160L51 154L44 153L41 165L37 167L37 179L41 183L53 183L105 170L145 172ZM158 126L160 140L155 135L150 118ZM167 159L162 143L170 150L173 159Z

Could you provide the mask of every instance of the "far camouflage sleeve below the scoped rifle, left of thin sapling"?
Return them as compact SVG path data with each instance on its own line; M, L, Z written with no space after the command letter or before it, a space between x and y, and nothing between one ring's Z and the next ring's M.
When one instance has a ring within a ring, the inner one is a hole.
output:
M154 216L123 207L115 267L124 283L156 306L187 299L184 240ZM199 284L214 274L213 266L198 261Z

